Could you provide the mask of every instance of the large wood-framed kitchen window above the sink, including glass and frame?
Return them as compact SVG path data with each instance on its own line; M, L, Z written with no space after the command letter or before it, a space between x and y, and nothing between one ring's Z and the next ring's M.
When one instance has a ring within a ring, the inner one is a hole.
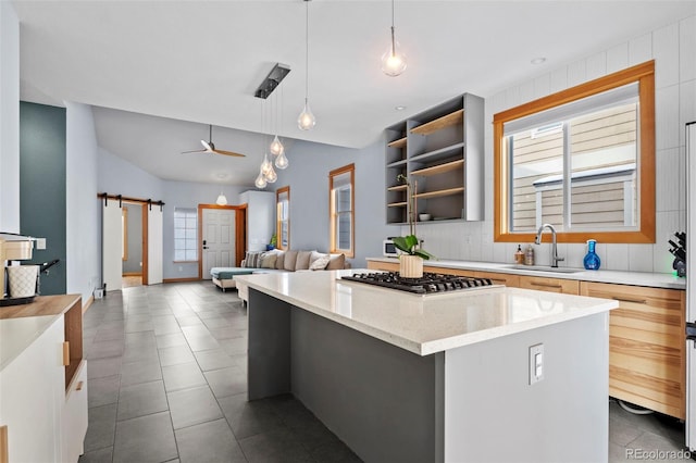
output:
M654 62L494 116L495 240L655 242Z

